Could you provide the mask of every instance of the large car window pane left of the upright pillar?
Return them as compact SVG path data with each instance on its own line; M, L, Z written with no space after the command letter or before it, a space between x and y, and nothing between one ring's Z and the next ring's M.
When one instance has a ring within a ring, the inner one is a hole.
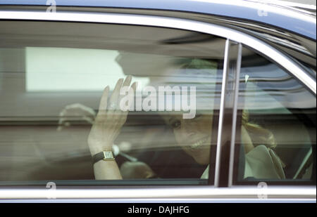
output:
M91 140L111 143L123 178L114 184L212 180L225 39L132 25L0 25L1 185L111 183L96 180L106 178L94 170ZM128 75L137 88L122 112L110 96Z

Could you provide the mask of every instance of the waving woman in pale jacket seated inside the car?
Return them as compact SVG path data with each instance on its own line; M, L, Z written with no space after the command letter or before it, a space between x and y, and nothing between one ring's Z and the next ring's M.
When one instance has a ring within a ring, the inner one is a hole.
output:
M124 81L119 79L108 100L109 88L104 89L99 104L99 112L89 133L88 144L92 157L101 152L111 152L114 140L127 118L128 112L119 108L120 89L130 87L136 91L137 84L131 86L132 77L128 76ZM129 97L129 96L128 96ZM132 96L131 96L132 97ZM189 154L198 164L209 164L211 127L213 116L211 114L199 114L194 119L183 119L182 115L169 115L164 118L172 127L175 140L182 149ZM256 143L252 137L256 138ZM271 150L275 141L271 132L260 126L248 122L247 113L242 117L241 138L245 152L244 178L285 178L282 162ZM149 170L146 166L145 170ZM98 160L94 163L94 175L96 179L122 179L118 164L109 157L109 160ZM208 178L208 169L201 178Z

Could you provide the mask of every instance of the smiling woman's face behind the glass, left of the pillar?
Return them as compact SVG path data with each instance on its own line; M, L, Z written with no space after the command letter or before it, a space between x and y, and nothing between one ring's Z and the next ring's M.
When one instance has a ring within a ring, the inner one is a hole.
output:
M193 119L170 115L167 121L178 145L199 164L209 164L213 115L196 114Z

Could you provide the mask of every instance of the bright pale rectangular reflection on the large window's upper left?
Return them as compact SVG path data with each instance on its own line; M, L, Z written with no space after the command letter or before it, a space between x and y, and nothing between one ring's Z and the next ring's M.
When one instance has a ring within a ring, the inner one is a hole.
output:
M124 77L116 62L118 51L80 48L25 48L26 91L102 91L104 84L113 90ZM146 85L147 77L135 81Z

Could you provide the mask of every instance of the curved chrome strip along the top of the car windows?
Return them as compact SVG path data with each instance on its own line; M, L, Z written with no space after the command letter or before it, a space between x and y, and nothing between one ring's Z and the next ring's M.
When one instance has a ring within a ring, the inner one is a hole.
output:
M299 81L302 81L316 96L316 81L305 73L305 70L298 63L284 53L278 51L263 41L251 37L248 34L239 32L229 27L222 27L207 22L185 20L181 18L166 18L154 15L132 15L118 13L88 13L88 12L56 12L45 13L37 11L0 11L0 20L37 20L37 21L64 21L64 22L96 22L122 25L142 25L152 27L167 27L173 29L184 29L206 34L214 34L224 39L237 41L256 51L266 55L274 56L276 63L293 74Z

